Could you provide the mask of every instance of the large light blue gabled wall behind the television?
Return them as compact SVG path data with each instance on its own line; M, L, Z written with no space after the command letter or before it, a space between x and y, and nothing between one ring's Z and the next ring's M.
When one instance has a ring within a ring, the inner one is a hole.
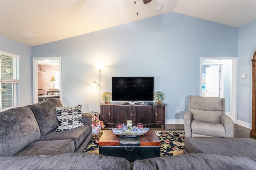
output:
M64 106L99 111L91 83L103 63L102 93L111 92L112 76L153 76L154 91L166 95L167 120L183 119L188 97L199 95L200 57L237 56L238 28L174 12L32 47L32 57L62 58Z

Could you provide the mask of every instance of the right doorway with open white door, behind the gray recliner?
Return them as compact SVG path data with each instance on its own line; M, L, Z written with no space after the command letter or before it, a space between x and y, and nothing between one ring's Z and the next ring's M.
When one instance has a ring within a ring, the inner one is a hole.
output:
M206 87L205 83L207 82L205 81L206 78L215 79L211 82L212 87L215 88L216 94L219 93L219 97L225 99L226 115L229 115L234 123L237 123L237 61L238 57L200 58L200 96L210 96L206 94L208 93L206 92L208 87ZM206 75L206 68L209 67L219 67L220 72L210 71Z

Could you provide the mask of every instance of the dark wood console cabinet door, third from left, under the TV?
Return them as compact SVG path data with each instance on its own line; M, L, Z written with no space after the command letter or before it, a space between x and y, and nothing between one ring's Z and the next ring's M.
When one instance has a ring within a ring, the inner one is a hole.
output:
M133 121L132 124L137 125L137 123L152 124L154 123L153 114L154 106L152 105L138 105L133 106Z

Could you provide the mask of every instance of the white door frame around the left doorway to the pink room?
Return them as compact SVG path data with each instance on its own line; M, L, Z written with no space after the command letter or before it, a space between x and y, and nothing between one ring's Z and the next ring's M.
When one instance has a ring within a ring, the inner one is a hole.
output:
M62 101L61 57L33 57L33 104L38 103L38 60L58 60L60 72L60 101Z

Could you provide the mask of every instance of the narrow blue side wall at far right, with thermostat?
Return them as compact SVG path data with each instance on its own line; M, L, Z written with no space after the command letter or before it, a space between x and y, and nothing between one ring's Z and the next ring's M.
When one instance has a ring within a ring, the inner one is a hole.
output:
M256 51L256 20L238 31L238 120L252 123L252 61ZM241 75L246 74L246 79Z

